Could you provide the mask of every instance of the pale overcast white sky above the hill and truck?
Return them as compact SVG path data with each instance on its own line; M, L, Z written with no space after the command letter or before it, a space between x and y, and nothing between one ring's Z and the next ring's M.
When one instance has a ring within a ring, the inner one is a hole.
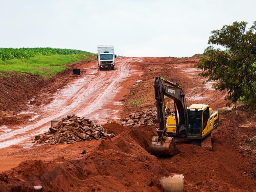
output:
M190 57L210 31L256 20L248 0L0 0L0 47L53 47L115 54Z

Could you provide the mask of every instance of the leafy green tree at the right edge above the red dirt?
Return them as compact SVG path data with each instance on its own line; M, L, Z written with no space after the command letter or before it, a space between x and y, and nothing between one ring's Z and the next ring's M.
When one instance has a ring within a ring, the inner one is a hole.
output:
M226 100L237 102L242 98L256 107L256 21L250 28L248 22L233 22L219 30L211 31L202 57L195 65L202 70L199 76L208 77L203 83L218 81L214 88L227 91ZM229 51L214 49L221 45Z

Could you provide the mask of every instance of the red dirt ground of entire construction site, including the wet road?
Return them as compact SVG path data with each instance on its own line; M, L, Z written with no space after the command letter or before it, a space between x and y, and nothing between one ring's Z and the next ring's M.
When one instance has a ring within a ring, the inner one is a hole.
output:
M42 191L163 191L159 178L173 173L184 175L184 191L256 191L255 111L226 107L225 93L215 91L214 82L203 85L205 79L197 76L199 58L120 57L113 71L99 71L97 62L84 61L72 65L81 76L69 70L37 89L26 87L29 94L22 102L6 101L1 108L0 191L35 191L39 185ZM179 83L188 106L208 103L219 110L212 151L182 144L177 155L156 157L148 152L156 127L118 123L131 112L155 108L155 75ZM1 89L1 95L6 92ZM15 98L15 91L11 94ZM103 125L115 137L34 145L50 120L69 114ZM80 154L84 149L86 154Z

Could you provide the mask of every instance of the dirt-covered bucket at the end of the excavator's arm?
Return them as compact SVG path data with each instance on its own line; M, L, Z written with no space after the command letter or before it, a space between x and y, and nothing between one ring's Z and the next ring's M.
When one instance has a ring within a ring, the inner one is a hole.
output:
M158 137L153 136L150 150L154 155L173 156L178 153L173 137L165 137L164 141L160 141Z

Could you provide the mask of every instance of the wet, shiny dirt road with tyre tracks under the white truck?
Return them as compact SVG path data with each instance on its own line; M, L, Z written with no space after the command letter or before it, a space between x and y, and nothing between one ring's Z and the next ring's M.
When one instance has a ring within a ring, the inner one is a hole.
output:
M1 126L0 148L18 144L35 135L46 132L51 120L62 119L68 114L77 114L93 119L98 124L118 117L122 109L119 101L126 87L133 84L141 71L134 62L140 58L118 58L113 71L99 71L97 63L78 64L82 76L60 89L54 100L30 110L36 119L25 127ZM31 144L27 143L25 147Z

